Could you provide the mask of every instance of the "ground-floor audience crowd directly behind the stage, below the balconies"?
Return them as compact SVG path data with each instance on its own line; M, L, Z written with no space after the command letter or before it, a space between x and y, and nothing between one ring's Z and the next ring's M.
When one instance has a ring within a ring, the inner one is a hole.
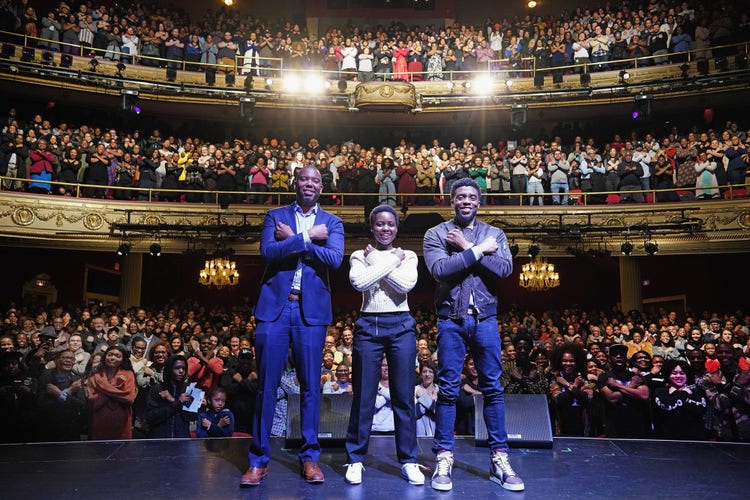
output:
M435 428L437 318L411 312L411 381L418 435ZM336 311L320 361L322 393L351 392L358 311ZM501 383L508 394L546 394L555 435L750 439L750 314L709 311L500 311ZM2 442L248 435L258 375L252 311L198 304L164 308L13 305L0 334ZM613 347L614 346L614 347ZM169 363L171 361L171 363ZM394 431L388 365L373 431ZM195 412L187 386L205 392ZM478 375L463 362L455 431L474 433ZM166 391L166 392L165 392ZM299 393L289 360L279 399ZM285 404L274 435L285 435ZM192 434L191 434L192 433Z

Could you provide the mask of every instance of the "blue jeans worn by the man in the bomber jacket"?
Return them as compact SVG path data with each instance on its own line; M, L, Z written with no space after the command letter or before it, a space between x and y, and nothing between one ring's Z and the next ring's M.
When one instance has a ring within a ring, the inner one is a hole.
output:
M479 390L484 395L484 422L487 443L491 450L507 450L505 431L505 400L500 385L500 334L495 317L438 320L438 376L439 387L435 441L432 451L453 451L453 429L456 423L456 400L461 388L466 349L474 359L479 373Z

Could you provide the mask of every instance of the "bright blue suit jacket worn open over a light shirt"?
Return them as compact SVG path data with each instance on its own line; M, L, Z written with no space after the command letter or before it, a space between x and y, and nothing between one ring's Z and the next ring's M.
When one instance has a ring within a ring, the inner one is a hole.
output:
M276 240L276 223L292 228L294 236ZM341 219L318 208L315 225L328 227L325 242L313 241L305 249L305 240L297 233L294 205L269 210L263 220L260 253L266 270L260 286L255 317L261 321L275 321L287 302L297 263L302 262L302 318L309 325L329 325L333 320L329 269L337 269L344 259L344 226Z

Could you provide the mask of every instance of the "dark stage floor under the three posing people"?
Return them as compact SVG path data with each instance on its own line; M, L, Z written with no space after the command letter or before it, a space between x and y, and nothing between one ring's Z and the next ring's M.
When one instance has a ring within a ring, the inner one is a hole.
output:
M327 445L322 485L299 477L295 450L276 449L260 486L238 487L248 439L81 442L0 446L0 498L748 498L750 445L608 439L555 439L552 449L514 448L512 464L526 491L487 479L488 449L458 439L454 488L410 486L398 476L393 438L372 438L361 485L344 482L343 447ZM420 462L432 467L430 439ZM743 493L744 492L744 493Z

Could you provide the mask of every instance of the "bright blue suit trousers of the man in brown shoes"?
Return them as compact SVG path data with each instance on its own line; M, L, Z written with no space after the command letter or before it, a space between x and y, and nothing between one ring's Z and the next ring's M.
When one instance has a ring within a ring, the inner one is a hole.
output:
M259 321L255 331L258 396L248 453L250 467L267 467L271 459L269 436L276 409L276 389L286 368L290 342L300 385L301 430L305 441L298 457L300 462L317 462L320 457L320 361L326 327L306 325L299 308L300 302L288 301L279 319Z

